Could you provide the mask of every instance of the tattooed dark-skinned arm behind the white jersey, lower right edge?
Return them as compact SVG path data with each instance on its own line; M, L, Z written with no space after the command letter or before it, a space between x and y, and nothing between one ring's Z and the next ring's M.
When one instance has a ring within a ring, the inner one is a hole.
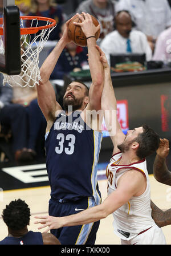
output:
M171 209L161 210L151 200L152 218L157 226L164 227L171 224Z

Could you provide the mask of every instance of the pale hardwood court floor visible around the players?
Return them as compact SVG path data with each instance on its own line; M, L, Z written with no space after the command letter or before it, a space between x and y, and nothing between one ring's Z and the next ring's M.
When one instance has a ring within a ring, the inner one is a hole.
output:
M161 209L171 208L171 187L160 184L157 182L153 175L149 175L151 185L151 198L154 204ZM100 180L99 187L101 191L102 199L107 197L107 180ZM31 220L29 230L38 231L38 225L34 224L34 216L37 214L47 214L48 212L48 200L50 198L50 187L43 186L39 188L17 189L7 190L0 192L0 216L2 210L6 204L9 204L11 200L21 198L25 200L31 209ZM112 215L108 216L104 220L101 220L100 227L97 232L96 245L119 245L120 239L113 233L112 227ZM2 218L0 218L0 240L7 235L7 227L4 224ZM166 242L171 245L171 225L162 227L164 231Z

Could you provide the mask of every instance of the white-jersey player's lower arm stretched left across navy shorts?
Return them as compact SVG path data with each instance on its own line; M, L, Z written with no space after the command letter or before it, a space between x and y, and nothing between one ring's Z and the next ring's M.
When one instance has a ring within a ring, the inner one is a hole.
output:
M45 230L45 232L48 232L51 229L59 229L63 226L84 225L106 218L109 214L115 212L116 209L127 203L132 196L136 195L137 191L141 189L141 184L143 184L142 176L143 174L136 170L129 170L129 173L123 174L120 178L120 181L117 183L117 189L101 205L66 217L35 216L35 218L40 220L34 223L42 224L38 229L48 227Z

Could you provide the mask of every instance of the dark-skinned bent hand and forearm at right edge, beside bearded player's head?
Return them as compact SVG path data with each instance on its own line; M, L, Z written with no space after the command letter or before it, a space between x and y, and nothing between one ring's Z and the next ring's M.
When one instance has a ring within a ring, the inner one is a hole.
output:
M156 153L153 165L154 178L158 182L171 186L171 172L166 165L166 157L169 154L169 140L160 139L160 146Z

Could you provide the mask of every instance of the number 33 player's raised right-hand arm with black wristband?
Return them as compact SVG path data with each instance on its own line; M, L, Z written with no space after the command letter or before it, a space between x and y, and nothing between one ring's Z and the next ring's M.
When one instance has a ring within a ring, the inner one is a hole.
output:
M101 109L101 93L103 91L104 71L103 65L100 62L100 54L96 48L95 34L100 29L100 25L97 27L93 25L92 17L90 14L83 12L83 16L77 14L82 20L82 23L76 23L75 25L82 27L82 31L87 38L88 47L88 64L91 72L92 84L89 89L89 103L87 109L95 109L98 111Z

